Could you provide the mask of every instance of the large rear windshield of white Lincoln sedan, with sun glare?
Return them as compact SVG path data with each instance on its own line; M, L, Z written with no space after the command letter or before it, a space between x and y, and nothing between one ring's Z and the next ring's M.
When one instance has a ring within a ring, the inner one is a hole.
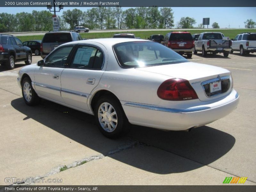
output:
M125 42L113 46L117 60L124 68L188 62L180 54L156 42Z

